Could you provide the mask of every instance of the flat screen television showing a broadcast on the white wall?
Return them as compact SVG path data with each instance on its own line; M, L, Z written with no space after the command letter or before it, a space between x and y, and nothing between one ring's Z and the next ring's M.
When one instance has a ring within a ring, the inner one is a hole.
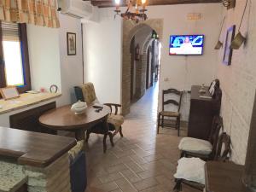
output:
M169 55L202 55L204 35L172 35Z

